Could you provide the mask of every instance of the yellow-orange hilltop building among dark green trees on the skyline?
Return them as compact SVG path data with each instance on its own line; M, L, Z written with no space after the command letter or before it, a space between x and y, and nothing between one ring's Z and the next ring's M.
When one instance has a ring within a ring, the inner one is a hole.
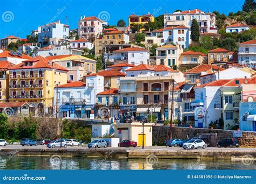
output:
M134 15L134 12L132 13L132 15L129 16L129 27L132 24L146 24L148 22L154 22L154 17L153 15L149 13L147 13L147 15ZM139 32L144 31L145 29L140 29Z

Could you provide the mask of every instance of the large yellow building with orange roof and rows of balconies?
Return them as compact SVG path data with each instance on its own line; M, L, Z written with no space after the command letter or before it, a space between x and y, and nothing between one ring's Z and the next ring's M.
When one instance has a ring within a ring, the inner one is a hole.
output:
M9 69L9 102L27 102L36 115L53 112L54 87L66 83L68 70L42 56Z

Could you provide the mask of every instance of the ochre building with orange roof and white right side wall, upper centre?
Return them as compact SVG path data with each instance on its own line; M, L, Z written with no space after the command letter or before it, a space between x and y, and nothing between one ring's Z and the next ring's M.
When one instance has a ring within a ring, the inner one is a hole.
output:
M130 37L128 34L119 30L107 31L103 33L103 39L104 39L105 45L128 44L129 38Z

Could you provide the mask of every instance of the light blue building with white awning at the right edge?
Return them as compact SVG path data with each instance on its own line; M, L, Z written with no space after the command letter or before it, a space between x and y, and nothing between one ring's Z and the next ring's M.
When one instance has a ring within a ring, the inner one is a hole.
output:
M242 102L239 108L239 128L256 131L256 102Z

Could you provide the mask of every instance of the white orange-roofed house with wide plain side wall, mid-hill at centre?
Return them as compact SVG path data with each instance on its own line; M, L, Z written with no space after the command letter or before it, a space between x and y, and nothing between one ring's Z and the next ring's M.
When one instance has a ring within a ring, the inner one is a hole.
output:
M131 65L147 64L150 59L150 52L144 48L128 47L113 51L114 63L127 62Z

